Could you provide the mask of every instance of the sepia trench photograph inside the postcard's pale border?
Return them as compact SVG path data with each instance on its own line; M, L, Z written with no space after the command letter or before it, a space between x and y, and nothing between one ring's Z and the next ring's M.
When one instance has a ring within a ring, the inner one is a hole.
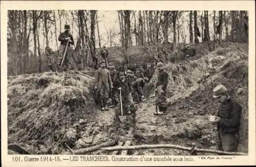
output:
M247 156L250 19L248 10L8 10L8 156Z

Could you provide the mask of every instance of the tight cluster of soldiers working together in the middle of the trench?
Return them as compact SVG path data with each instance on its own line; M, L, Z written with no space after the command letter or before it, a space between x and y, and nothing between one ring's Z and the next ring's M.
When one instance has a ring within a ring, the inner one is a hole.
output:
M141 71L137 71L137 73L136 75L139 78L127 66L116 70L114 64L110 62L108 69L106 61L100 61L100 68L95 73L94 89L102 111L109 110L107 105L109 99L111 99L112 107L118 105L120 99L122 99L126 114L135 111L135 104L145 100L143 87L148 83L148 78L140 75Z

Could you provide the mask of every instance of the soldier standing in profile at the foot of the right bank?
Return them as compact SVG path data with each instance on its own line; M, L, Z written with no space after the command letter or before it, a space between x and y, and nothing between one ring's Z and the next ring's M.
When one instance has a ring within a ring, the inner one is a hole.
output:
M155 115L161 115L166 113L166 86L168 84L168 73L163 69L163 63L158 62L157 63L157 69L159 70L159 75L157 78L157 84L156 84L156 93L157 93L157 105L159 107L159 110L157 113L154 113Z

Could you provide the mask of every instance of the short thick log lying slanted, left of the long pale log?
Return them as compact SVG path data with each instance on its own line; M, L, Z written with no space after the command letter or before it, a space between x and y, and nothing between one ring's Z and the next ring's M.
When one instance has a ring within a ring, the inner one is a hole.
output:
M116 144L117 144L116 140L109 140L109 141L103 142L102 144L99 144L99 145L96 145L93 147L83 148L83 149L79 149L79 150L73 150L73 153L74 154L89 153L89 152L96 151L102 147L115 146Z

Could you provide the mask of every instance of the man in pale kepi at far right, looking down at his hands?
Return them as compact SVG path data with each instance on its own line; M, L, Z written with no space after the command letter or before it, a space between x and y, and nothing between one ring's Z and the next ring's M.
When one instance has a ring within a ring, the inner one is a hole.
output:
M242 106L230 98L224 85L218 85L214 88L213 97L221 104L218 115L211 116L209 120L212 124L218 125L218 149L237 152Z

